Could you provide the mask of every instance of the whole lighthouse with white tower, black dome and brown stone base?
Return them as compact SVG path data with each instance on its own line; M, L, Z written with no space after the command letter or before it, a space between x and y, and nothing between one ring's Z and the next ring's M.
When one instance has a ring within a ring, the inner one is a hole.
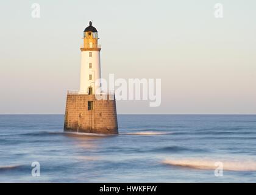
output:
M98 39L98 31L90 21L80 47L80 88L66 95L65 132L118 133L115 94L101 90Z

